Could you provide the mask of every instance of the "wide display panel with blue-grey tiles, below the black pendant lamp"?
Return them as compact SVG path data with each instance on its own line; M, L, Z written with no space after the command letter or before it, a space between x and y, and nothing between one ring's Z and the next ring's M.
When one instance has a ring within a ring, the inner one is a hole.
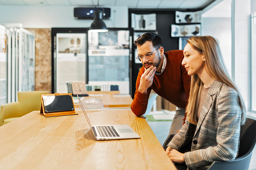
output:
M88 33L89 85L118 85L121 94L130 93L129 31Z

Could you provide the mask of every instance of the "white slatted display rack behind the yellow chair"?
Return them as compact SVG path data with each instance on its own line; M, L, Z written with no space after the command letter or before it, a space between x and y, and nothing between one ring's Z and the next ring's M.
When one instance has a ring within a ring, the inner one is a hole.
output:
M22 24L6 24L7 102L18 101L18 91L35 90L35 36Z

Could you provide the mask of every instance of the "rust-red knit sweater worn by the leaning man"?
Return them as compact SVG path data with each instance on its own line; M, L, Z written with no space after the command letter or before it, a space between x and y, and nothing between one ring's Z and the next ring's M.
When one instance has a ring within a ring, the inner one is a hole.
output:
M145 71L144 67L140 69L136 81L134 99L131 104L131 109L136 116L142 116L146 112L151 89L177 107L186 108L191 77L182 65L183 50L167 51L164 55L166 57L165 69L160 75L154 75L153 83L145 94L138 91L141 75Z

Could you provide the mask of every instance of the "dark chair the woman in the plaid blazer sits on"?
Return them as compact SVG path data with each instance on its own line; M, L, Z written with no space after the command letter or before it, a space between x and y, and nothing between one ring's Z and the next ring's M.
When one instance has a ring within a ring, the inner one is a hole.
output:
M167 144L172 140L174 135L169 135L163 143L166 149ZM249 169L251 154L256 143L256 120L246 118L246 122L241 126L240 147L238 157L230 161L214 161L208 170L232 169L241 170Z

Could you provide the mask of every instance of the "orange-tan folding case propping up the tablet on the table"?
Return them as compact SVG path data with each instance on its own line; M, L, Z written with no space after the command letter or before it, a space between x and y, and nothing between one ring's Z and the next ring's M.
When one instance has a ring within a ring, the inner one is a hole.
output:
M78 114L78 113L75 113L75 109L73 109L72 111L69 110L69 111L56 111L56 112L45 113L43 96L57 96L57 95L70 95L70 96L72 96L71 93L42 94L42 95L41 95L41 109L40 109L40 114L42 114L44 117L65 116L65 115L74 115L74 114ZM72 97L71 97L71 98L72 98ZM72 98L72 104L73 104L73 106L74 106L73 98Z

